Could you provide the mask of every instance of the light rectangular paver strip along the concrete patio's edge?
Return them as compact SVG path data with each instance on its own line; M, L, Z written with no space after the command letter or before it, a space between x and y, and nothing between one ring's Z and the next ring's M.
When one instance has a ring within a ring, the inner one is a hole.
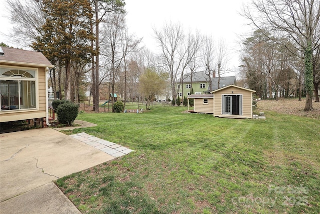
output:
M131 151L133 151L133 150L126 148L126 147L123 147L121 145L94 137L94 136L89 135L85 132L72 134L69 136L73 137L74 139L77 139L78 141L86 143L96 149L99 149L100 151L103 151L113 157L120 157L120 156L123 156L123 155L128 154Z

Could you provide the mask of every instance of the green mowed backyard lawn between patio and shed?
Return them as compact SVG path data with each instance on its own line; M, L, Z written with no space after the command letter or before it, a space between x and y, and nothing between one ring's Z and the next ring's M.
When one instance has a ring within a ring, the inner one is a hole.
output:
M79 114L134 152L56 183L83 213L320 213L319 120L185 110Z

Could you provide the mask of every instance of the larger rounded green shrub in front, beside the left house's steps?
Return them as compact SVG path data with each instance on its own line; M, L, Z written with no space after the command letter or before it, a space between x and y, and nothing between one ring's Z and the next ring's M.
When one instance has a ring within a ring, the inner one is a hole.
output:
M77 104L65 102L57 107L57 119L59 123L71 125L78 115L79 107Z

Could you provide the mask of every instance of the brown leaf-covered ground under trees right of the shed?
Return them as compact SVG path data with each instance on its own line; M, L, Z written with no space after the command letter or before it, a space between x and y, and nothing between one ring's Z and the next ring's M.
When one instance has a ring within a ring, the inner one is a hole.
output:
M261 100L257 102L256 112L274 111L280 114L291 114L301 117L320 119L320 103L312 102L313 110L303 111L305 99Z

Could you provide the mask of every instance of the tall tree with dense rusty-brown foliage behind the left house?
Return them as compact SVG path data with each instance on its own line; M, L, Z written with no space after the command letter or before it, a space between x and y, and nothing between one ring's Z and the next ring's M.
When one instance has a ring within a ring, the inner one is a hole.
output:
M71 67L79 62L89 62L92 53L91 7L87 1L80 0L43 0L42 4L45 15L45 24L41 27L43 34L36 38L31 47L41 51L51 63L65 68L65 98L72 101L74 75Z

